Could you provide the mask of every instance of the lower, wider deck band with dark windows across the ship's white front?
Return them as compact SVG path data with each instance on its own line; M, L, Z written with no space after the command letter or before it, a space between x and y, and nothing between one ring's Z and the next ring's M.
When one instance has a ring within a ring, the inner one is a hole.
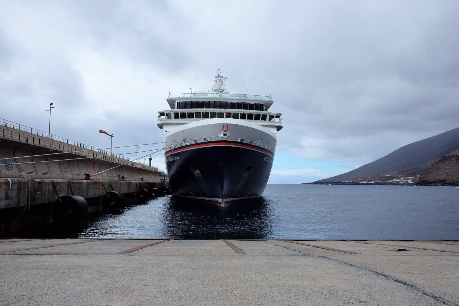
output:
M233 118L242 119L254 122L266 122L267 124L275 123L282 124L281 113L272 113L266 111L251 111L251 110L238 110L238 109L219 109L219 108L206 108L206 109L188 109L188 110L169 110L158 111L158 121L168 120L202 120L213 118Z

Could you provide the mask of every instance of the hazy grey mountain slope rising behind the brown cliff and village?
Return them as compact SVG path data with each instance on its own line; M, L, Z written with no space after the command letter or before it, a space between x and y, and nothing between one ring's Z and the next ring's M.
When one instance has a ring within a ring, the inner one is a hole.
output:
M316 181L336 182L353 178L371 178L397 172L400 175L418 175L427 171L440 157L459 148L459 128L438 134L381 157L352 171Z

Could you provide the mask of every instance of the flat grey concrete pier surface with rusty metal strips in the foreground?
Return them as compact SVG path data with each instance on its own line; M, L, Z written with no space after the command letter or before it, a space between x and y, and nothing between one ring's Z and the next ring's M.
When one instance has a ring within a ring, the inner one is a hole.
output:
M459 241L0 239L0 261L0 305L459 305Z

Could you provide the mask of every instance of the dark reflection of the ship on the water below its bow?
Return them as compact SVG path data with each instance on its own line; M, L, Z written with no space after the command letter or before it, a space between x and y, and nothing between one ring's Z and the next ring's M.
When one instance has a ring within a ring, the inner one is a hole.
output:
M272 203L271 203L272 204ZM164 237L246 238L273 237L270 201L265 198L239 200L227 206L170 197L163 218Z

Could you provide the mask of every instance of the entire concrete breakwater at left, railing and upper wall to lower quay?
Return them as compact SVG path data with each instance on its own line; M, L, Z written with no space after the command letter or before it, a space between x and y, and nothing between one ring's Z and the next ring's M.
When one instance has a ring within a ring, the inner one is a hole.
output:
M123 205L134 203L139 192L143 198L163 195L168 182L161 173L128 157L0 119L0 236L62 221L56 214L68 210L62 208L62 196L83 198L79 205L85 207L78 207L84 213L70 220L78 222L86 213L103 211L101 200L109 192L120 194Z

